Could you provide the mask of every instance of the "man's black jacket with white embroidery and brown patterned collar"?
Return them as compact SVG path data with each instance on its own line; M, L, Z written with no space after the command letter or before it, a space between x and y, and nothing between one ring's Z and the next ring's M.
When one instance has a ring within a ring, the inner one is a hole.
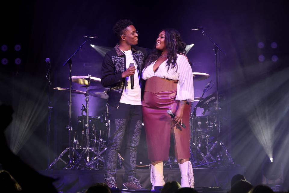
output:
M140 87L142 89L141 72L144 67L144 60L149 54L149 49L132 46L132 56L138 65L140 76ZM123 93L125 78L121 74L126 71L126 55L120 50L117 44L113 50L110 50L104 56L101 67L101 84L104 87L110 87L108 104L117 107Z

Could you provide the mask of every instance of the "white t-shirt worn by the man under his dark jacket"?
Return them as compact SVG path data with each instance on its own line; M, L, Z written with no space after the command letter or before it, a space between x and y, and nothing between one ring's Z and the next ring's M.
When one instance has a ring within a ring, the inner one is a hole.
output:
M122 51L126 55L126 69L129 68L129 64L133 63L135 65L135 74L133 76L134 87L132 89L130 85L130 76L126 77L126 82L123 93L121 94L120 103L130 104L130 105L141 105L141 87L139 86L139 70L138 65L132 56L132 50Z

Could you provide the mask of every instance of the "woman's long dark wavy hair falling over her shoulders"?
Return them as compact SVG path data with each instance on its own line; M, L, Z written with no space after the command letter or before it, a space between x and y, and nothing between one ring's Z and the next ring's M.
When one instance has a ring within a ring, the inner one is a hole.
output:
M182 38L180 33L172 28L166 28L164 30L161 31L165 31L165 43L166 43L166 49L168 50L168 61L166 62L166 66L171 68L175 68L178 69L177 66L177 54L185 54L187 53L187 51L185 50L186 48L186 43L182 42ZM160 55L161 55L162 51L156 49L156 44L154 44L154 49L152 50L151 54L148 56L148 58L145 61L145 65L144 68L146 68L148 65L150 65L152 62L156 61Z

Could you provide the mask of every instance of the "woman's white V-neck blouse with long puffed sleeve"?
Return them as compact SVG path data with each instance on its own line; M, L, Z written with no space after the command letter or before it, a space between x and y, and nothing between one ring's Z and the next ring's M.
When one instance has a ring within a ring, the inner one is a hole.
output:
M154 72L154 64L151 63L142 71L142 78L147 80L153 76L165 78L169 80L179 80L177 84L176 100L187 100L189 103L194 101L194 81L192 68L185 56L177 54L177 71L175 68L166 66L166 61L160 64L156 72Z

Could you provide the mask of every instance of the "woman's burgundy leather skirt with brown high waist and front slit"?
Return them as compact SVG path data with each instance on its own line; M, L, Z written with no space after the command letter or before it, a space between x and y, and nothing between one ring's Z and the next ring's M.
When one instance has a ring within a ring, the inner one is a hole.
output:
M178 160L190 157L190 106L185 105L182 121L183 128L175 126L167 110L176 112L179 101L176 99L177 80L168 80L151 77L146 81L144 98L142 101L142 114L146 140L148 146L148 159L152 161L168 160L170 134L175 142L175 155Z

